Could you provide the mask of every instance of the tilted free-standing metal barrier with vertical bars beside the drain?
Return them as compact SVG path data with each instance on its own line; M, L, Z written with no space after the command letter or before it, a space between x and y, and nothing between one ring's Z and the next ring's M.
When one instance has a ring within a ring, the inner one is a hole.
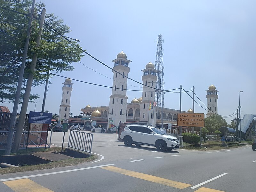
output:
M85 151L91 155L93 134L70 130L68 148Z

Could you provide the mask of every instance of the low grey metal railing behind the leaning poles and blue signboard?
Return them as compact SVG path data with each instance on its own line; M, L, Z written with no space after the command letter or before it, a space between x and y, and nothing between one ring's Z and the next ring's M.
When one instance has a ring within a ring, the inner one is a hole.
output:
M29 137L28 137L28 131L23 131L22 132L22 138L20 140L20 149L25 149L28 144L28 148L44 148L46 144L46 148L51 147L51 140L52 140L52 132L50 135L50 141L47 143L46 140L44 140L41 135L42 133L47 133L47 131L30 131L29 132ZM6 136L8 135L8 131L0 131L1 136ZM15 132L14 132L15 135ZM28 143L27 143L28 139ZM14 137L12 138L12 142L14 141ZM7 144L7 137L2 139L0 141L0 150L5 150Z

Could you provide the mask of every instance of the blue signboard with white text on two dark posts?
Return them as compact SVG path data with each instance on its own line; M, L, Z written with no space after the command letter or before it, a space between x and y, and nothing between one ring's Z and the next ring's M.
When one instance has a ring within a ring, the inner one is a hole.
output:
M41 112L29 111L28 123L29 123L29 125L28 125L28 138L29 138L30 124L31 123L48 124L47 136L46 136L45 147L44 147L44 149L45 149L47 138L48 138L49 124L52 123L52 113L41 113ZM26 151L28 149L28 138L27 138Z

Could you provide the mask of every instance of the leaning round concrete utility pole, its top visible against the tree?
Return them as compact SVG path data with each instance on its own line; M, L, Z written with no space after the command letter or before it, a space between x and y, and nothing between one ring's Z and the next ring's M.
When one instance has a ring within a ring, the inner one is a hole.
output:
M39 47L39 45L40 45L40 40L41 40L43 26L44 26L45 13L46 13L46 9L43 8L43 11L41 13L41 19L39 22L39 31L38 31L38 34L36 37L36 47ZM15 140L14 140L13 147L12 147L12 151L14 153L19 151L20 140L21 140L23 126L24 126L24 122L25 122L25 118L26 118L26 112L28 109L28 101L29 101L30 92L31 92L31 88L32 88L34 72L35 72L35 68L36 68L36 60L37 60L37 52L34 52L32 60L31 60L30 73L28 75L28 81L27 81L27 85L26 85L26 89L25 89L25 93L24 93L24 98L22 101L21 109L20 109L20 118L19 118L18 124L17 124ZM29 127L28 127L28 129L29 129Z

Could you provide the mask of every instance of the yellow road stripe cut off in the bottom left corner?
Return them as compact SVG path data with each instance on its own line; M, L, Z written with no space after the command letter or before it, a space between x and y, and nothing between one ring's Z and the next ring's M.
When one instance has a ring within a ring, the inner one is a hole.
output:
M15 192L54 192L50 189L43 187L42 185L37 184L36 182L30 179L4 181L3 183Z

